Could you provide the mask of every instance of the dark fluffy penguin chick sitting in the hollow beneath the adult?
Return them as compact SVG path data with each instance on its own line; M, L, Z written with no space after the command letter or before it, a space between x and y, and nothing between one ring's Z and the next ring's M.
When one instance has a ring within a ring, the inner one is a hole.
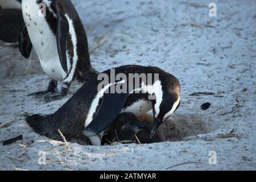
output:
M102 138L102 144L122 141L137 142L135 135L148 126L148 122L139 121L133 113L119 114L108 134Z

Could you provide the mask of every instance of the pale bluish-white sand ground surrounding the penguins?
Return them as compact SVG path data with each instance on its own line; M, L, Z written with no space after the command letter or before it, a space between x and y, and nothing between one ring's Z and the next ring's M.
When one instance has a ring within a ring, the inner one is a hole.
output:
M22 114L53 113L81 84L75 82L67 98L49 104L27 97L46 89L48 77L34 53L30 62L17 48L1 46L0 125L14 122L0 129L0 140L20 134L24 139L0 144L0 170L165 170L182 163L187 164L170 170L256 169L254 1L216 1L217 17L212 18L209 1L73 2L98 71L155 65L180 79L181 106L171 122L176 138L190 138L101 147L69 143L68 152L63 143L35 134ZM193 92L216 94L189 96ZM212 104L206 111L200 108L204 102ZM231 138L217 135L232 130ZM44 166L38 164L39 151L46 152ZM216 165L209 164L209 151L217 152Z

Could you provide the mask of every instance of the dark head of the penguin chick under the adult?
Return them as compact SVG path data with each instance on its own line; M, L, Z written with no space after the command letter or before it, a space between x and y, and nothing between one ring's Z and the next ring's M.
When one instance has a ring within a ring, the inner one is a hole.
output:
M113 129L115 130L119 141L123 141L133 140L135 134L148 126L148 122L138 121L134 114L122 113L115 119Z

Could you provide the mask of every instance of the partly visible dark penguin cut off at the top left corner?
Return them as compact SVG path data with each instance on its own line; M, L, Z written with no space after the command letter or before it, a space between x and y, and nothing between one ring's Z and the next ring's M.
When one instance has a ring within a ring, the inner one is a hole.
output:
M21 0L0 1L0 40L3 45L16 45L19 42L23 24Z

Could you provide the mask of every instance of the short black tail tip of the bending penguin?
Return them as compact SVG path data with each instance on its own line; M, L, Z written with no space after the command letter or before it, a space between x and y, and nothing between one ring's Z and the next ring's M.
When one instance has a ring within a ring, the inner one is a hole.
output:
M36 133L41 135L46 135L46 131L44 131L44 123L47 122L47 116L46 115L24 115L24 118L28 124Z

